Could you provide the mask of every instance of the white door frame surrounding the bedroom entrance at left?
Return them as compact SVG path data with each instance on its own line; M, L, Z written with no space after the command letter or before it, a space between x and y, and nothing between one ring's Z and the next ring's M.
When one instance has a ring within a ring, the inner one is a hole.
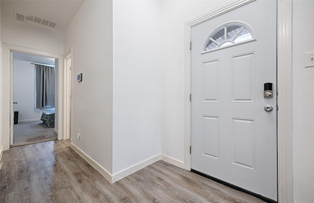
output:
M54 54L50 52L40 51L32 48L26 48L18 45L10 45L2 43L2 66L1 66L1 80L3 81L3 87L1 89L1 100L0 106L2 107L1 112L1 123L0 129L2 134L3 150L8 150L10 148L10 52L18 51L28 54L34 54L44 57L50 57L58 59L58 139L66 139L66 123L64 115L66 115L66 91L64 85L66 84L66 74L63 68L63 56L59 54Z

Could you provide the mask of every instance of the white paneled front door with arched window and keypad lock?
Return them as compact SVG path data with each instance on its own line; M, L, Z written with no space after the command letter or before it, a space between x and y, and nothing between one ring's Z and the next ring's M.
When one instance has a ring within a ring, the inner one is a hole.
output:
M275 201L276 5L253 1L191 28L191 168Z

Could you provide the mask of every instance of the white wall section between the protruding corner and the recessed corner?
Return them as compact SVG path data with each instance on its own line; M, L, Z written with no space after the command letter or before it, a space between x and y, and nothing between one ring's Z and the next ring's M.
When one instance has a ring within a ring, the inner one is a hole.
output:
M160 155L160 1L113 1L113 174Z

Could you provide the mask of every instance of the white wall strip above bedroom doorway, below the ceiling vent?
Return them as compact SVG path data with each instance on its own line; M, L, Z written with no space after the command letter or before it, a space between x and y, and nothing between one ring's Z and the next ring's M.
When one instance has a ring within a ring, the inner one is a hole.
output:
M2 17L2 42L63 55L63 34L40 25Z

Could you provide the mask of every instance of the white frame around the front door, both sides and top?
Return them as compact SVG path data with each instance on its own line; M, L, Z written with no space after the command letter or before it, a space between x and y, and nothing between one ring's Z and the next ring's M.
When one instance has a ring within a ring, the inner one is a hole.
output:
M191 27L252 1L255 0L232 0L184 24L184 169L186 170L191 170ZM292 0L277 0L277 88L278 203L288 203L293 202Z

